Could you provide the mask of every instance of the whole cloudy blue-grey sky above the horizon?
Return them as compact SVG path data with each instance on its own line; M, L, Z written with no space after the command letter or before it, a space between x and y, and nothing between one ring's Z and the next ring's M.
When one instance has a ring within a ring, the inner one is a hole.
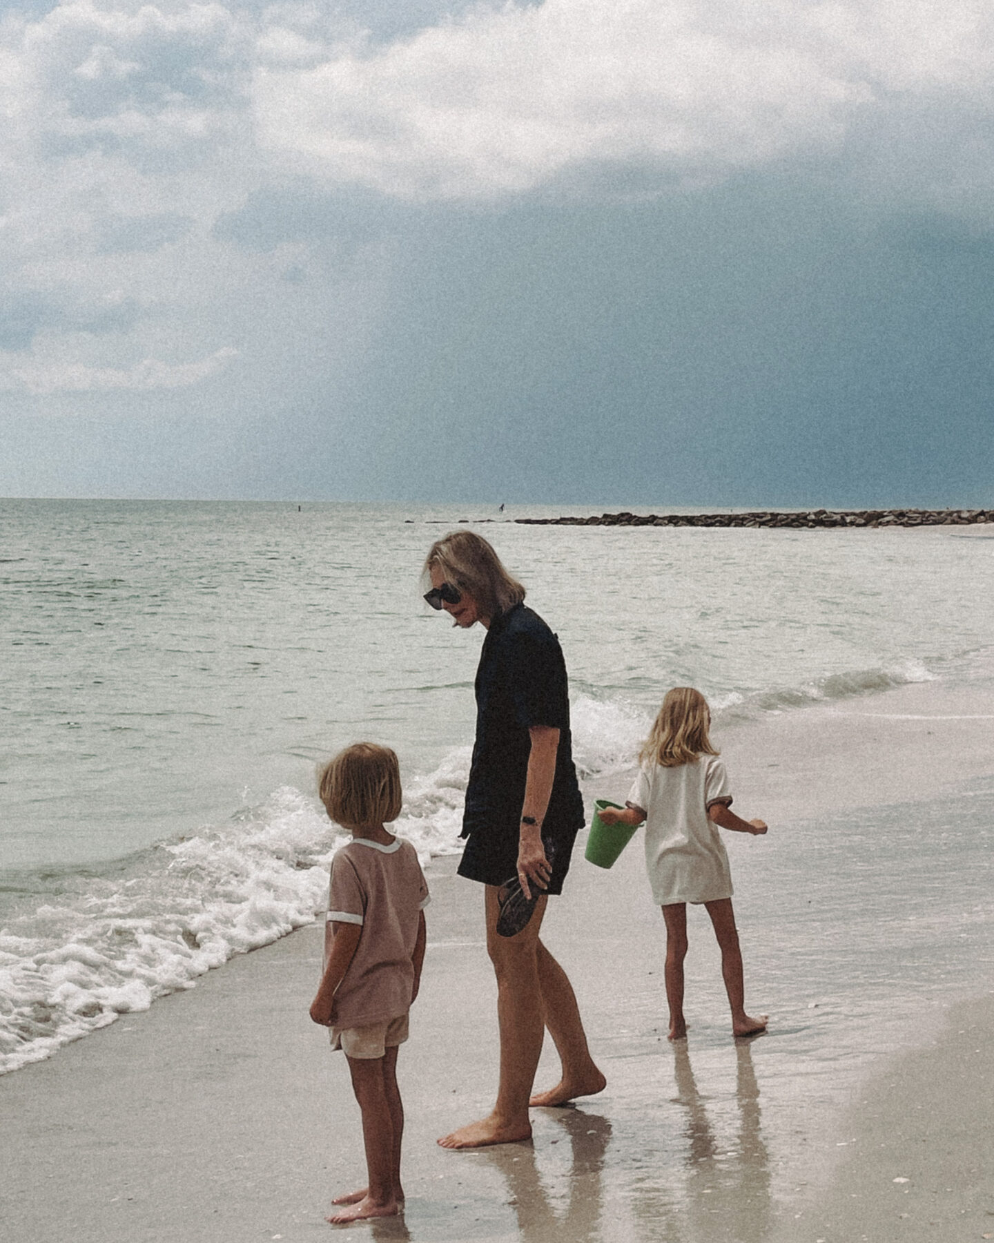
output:
M0 10L0 495L994 506L989 0Z

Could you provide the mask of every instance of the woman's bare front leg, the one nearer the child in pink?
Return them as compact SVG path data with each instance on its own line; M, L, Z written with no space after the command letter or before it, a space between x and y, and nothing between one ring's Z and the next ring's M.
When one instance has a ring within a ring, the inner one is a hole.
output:
M497 885L486 886L487 952L497 976L497 1021L501 1029L501 1081L497 1103L478 1122L461 1126L439 1144L444 1149L480 1149L513 1144L532 1135L528 1098L536 1078L542 1040L542 987L538 976L538 933L547 897L517 936L497 936Z

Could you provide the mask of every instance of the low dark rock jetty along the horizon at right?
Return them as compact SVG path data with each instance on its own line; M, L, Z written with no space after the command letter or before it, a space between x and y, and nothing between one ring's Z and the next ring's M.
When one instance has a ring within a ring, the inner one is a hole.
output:
M994 510L806 510L755 513L601 513L589 518L514 518L552 527L958 527L994 522Z

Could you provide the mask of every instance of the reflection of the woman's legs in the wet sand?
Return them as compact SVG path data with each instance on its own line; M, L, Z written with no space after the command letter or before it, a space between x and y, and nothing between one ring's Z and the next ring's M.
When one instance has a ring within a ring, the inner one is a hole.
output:
M563 1129L568 1147L562 1170L539 1173L531 1144L504 1144L486 1149L490 1162L507 1181L511 1204L518 1219L522 1243L599 1243L601 1238L604 1154L611 1124L599 1114L581 1109L549 1110ZM552 1156L543 1145L543 1167Z

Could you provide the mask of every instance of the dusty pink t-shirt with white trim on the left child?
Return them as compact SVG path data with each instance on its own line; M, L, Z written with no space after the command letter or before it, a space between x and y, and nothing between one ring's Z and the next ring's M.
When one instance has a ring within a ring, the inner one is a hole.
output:
M335 989L335 1027L367 1027L408 1013L417 914L429 901L427 881L410 842L394 838L384 846L353 838L335 851L327 917L363 929L345 978Z

